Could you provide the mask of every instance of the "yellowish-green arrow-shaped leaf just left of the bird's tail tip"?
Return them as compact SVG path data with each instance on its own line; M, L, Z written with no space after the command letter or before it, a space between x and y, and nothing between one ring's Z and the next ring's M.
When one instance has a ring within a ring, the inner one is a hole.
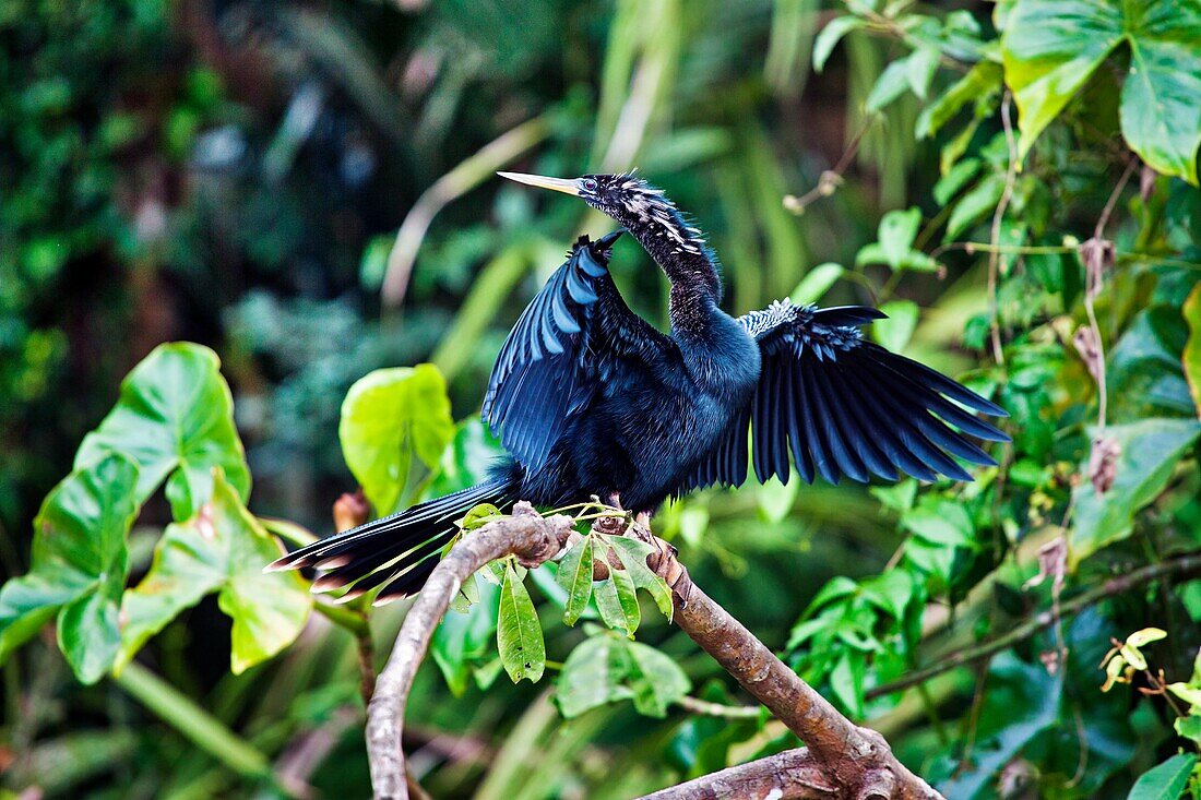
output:
M304 579L295 572L263 572L280 557L280 545L215 472L213 498L190 520L167 526L150 571L125 592L118 670L180 611L214 592L233 620L229 669L235 675L292 644L309 620L312 595Z

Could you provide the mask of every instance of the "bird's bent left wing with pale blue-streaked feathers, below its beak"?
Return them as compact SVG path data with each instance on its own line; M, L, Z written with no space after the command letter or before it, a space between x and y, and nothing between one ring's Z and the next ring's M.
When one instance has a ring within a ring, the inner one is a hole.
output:
M610 250L622 233L580 237L496 358L482 416L530 470L545 464L604 381L675 351L671 339L629 310L609 275Z

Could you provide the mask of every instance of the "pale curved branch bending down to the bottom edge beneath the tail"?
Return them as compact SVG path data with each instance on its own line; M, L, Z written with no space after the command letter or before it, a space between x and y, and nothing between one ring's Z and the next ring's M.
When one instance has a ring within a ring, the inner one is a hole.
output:
M489 523L462 537L434 568L405 616L392 656L380 673L375 694L368 704L368 759L376 798L408 800L401 748L408 691L430 646L434 629L464 581L488 562L507 555L516 555L530 566L539 565L562 550L570 532L570 517L543 519L528 503L518 503L513 517Z

